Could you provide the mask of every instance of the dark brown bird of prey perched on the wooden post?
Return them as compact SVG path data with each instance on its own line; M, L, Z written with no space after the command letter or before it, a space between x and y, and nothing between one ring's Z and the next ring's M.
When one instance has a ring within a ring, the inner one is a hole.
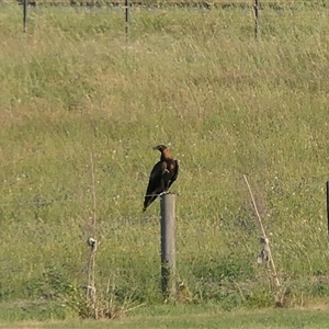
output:
M161 193L168 193L171 184L177 180L179 173L179 163L171 156L166 145L154 147L161 152L160 161L157 162L149 175L148 186L144 200L143 212L159 196Z

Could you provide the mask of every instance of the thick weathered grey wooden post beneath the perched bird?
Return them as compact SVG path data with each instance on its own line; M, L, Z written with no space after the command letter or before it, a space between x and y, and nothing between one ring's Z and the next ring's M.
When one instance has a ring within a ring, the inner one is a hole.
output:
M164 298L175 298L175 194L160 196L161 208L161 287Z

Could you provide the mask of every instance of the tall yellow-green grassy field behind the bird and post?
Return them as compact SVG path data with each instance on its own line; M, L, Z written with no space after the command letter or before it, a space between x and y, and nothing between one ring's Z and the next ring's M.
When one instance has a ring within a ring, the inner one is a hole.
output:
M83 314L90 235L102 303L162 303L158 203L141 213L160 143L181 164L178 303L274 305L243 174L284 306L328 298L327 18L265 8L256 41L252 10L139 9L126 43L118 9L31 9L24 34L2 4L0 318Z

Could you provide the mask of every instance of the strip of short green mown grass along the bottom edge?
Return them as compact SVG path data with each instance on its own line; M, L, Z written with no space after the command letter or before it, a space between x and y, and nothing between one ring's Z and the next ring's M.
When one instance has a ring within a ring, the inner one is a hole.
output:
M325 328L328 324L328 309L319 306L315 309L239 309L227 313L216 306L161 306L146 308L129 317L116 321L91 321L67 319L65 321L20 321L0 325L0 328Z

